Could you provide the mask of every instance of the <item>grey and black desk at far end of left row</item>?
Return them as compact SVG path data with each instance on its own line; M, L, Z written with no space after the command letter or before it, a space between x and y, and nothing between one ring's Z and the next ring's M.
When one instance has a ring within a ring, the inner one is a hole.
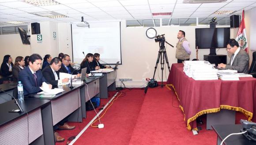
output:
M96 72L93 72L96 73ZM112 72L100 72L100 98L108 98L108 91L116 90L117 69Z

